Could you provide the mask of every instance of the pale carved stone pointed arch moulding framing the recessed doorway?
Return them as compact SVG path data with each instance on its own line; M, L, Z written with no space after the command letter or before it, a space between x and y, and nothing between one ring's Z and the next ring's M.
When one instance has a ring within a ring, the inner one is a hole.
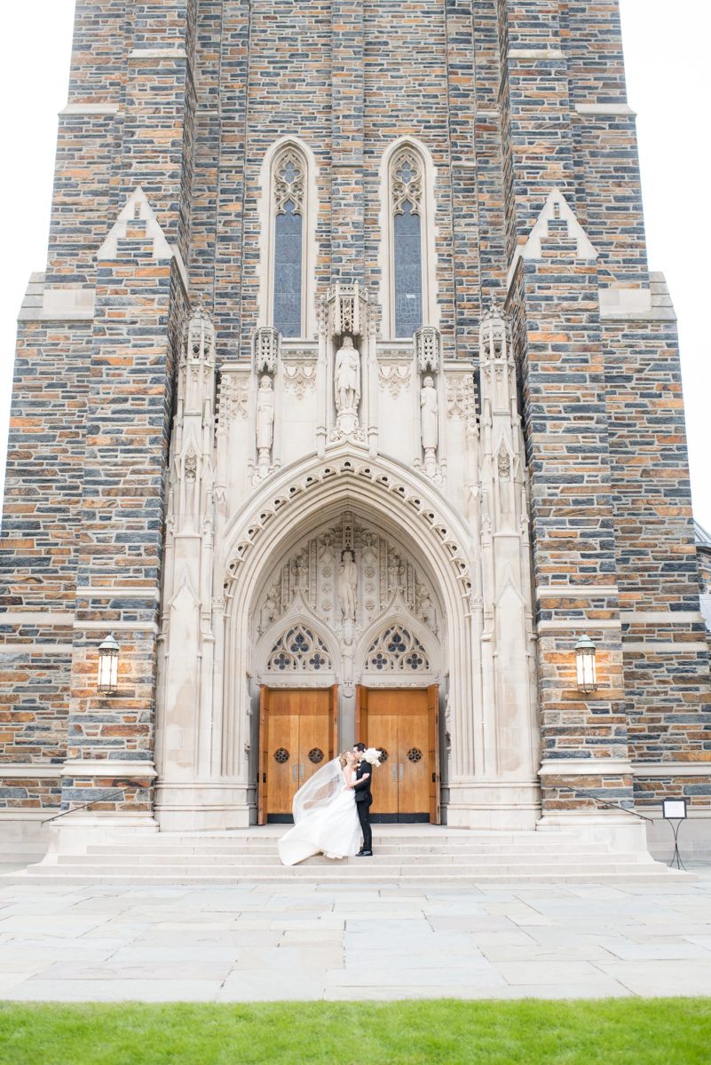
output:
M350 445L334 449L328 459L310 459L281 471L225 531L226 609L219 653L229 670L221 678L224 771L247 786L250 772L253 775L253 761L248 754L243 757L253 743L253 707L239 677L254 675L257 593L286 543L344 508L370 514L384 528L397 530L427 567L446 617L442 660L449 674L451 768L458 775L473 775L473 737L480 707L472 676L470 536L436 489L398 463L369 460Z

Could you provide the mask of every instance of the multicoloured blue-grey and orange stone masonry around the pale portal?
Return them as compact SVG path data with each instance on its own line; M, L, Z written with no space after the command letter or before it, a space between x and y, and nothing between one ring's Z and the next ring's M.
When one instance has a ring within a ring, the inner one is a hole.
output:
M442 360L476 362L492 299L513 324L543 814L588 810L590 793L625 808L682 793L711 816L676 322L647 263L616 0L78 2L47 263L18 323L0 805L152 809L183 324L199 304L212 316L237 409L270 325L269 159L290 138L309 161L307 347L329 285L356 281L379 340L409 343L382 325L384 160L400 141L427 161L424 325ZM109 632L120 690L99 695Z

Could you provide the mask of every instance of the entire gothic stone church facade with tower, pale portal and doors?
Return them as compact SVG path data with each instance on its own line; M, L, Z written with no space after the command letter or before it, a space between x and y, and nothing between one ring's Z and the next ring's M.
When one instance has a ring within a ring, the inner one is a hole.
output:
M79 2L0 554L16 838L278 820L357 736L388 820L701 825L616 0Z

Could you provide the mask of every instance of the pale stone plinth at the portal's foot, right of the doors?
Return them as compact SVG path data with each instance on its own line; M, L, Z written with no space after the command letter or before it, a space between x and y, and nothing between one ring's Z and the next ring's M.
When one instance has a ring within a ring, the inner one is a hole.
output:
M470 782L449 785L443 820L454 829L522 832L535 829L541 817L538 781Z

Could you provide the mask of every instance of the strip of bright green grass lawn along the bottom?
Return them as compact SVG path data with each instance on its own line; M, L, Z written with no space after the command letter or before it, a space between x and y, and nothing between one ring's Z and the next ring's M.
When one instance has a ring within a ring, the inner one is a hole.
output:
M0 1004L1 1065L678 1065L711 999Z

